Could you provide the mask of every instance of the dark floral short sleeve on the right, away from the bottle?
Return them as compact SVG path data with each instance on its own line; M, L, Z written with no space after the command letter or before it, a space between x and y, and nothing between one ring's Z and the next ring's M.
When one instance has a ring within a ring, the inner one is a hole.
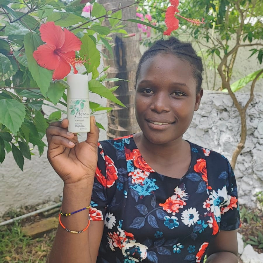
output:
M236 184L236 178L233 169L227 159L227 177L226 177L226 189L227 189L227 201L224 202L221 207L221 230L235 230L240 227L240 215L238 206L238 190Z

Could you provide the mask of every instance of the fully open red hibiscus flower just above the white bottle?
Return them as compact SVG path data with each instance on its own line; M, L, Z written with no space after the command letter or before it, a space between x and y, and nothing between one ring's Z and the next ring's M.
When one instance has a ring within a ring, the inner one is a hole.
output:
M70 65L74 74L78 71L75 60L75 51L80 50L81 41L67 29L56 26L54 22L42 24L39 29L41 39L46 44L34 51L33 56L37 63L48 70L54 70L52 79L63 79L70 72Z

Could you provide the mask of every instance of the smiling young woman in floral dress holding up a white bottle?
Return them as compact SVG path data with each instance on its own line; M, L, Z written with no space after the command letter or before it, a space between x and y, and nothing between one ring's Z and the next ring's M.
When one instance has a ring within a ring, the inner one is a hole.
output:
M207 263L237 262L231 166L183 140L203 96L202 71L191 44L157 41L136 74L141 132L97 143L91 117L91 131L79 143L67 119L50 125L48 159L64 190L49 263L192 263L205 255Z

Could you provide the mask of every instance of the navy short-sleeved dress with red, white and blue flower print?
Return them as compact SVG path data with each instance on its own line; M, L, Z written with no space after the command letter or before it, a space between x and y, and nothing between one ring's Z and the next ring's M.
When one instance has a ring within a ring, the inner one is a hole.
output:
M203 262L220 229L239 227L228 160L190 145L191 165L177 179L155 172L133 135L98 143L90 219L105 226L97 262Z

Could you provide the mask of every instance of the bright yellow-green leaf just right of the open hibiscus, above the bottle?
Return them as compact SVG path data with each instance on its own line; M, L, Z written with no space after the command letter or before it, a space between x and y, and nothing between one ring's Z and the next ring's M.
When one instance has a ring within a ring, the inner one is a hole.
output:
M84 63L84 66L87 72L90 73L92 72L93 67L98 68L98 66L100 65L101 55L96 48L96 44L87 34L82 37L81 42L82 45L79 51L79 55L87 60L87 62Z

